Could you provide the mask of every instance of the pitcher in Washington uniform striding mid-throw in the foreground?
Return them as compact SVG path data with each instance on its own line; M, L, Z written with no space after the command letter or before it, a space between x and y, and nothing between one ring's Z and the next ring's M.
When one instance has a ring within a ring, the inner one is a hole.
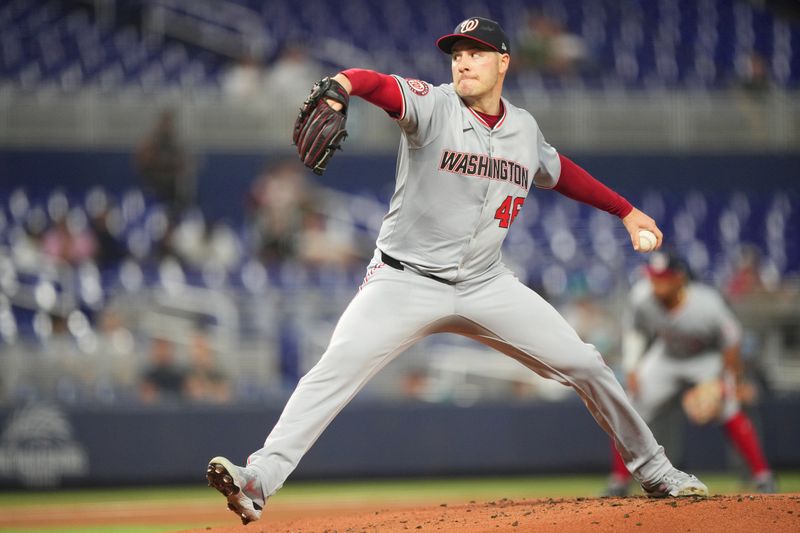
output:
M331 105L345 105L351 93L397 120L402 136L395 193L364 282L322 358L300 380L247 466L215 457L209 484L244 523L258 519L266 499L375 373L422 337L453 332L573 387L647 494L707 495L697 478L672 466L594 346L584 344L500 257L534 185L617 215L634 248L639 230L654 232L659 245L661 232L650 217L559 155L528 112L501 98L510 45L496 22L465 20L437 45L450 54L452 84L431 87L358 69L338 74L338 84L322 80L331 88ZM335 124L328 120L329 106L322 109L324 124L304 125L301 112L295 131L301 157L318 172L330 152L309 132L327 135L327 125ZM332 144L340 140L331 137Z

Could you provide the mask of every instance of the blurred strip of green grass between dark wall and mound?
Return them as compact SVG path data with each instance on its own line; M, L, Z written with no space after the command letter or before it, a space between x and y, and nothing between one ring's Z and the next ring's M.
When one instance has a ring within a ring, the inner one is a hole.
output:
M730 474L703 474L701 479L712 494L735 494L749 491L742 487L739 479ZM779 475L781 492L800 492L800 472L784 472ZM546 498L597 496L604 487L605 476L601 475L557 475L535 477L481 477L447 479L392 479L348 482L290 482L271 503L316 503L316 502L419 502L430 505L468 500L488 501L500 498ZM219 495L205 486L155 487L129 489L77 489L48 492L0 492L0 515L12 512L9 508L49 503L54 505L104 503L104 502L192 502L222 505ZM187 523L125 525L125 526L75 526L42 527L36 529L3 529L4 533L160 533L182 529L202 528L207 525Z

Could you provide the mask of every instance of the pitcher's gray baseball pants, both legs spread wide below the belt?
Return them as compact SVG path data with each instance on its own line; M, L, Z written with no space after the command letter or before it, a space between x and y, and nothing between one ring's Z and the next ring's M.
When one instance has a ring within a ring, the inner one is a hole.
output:
M327 350L298 383L264 447L248 459L264 495L277 492L333 418L387 363L426 335L453 332L571 386L640 482L671 463L591 344L504 266L448 285L373 259ZM598 445L602 445L598 443Z

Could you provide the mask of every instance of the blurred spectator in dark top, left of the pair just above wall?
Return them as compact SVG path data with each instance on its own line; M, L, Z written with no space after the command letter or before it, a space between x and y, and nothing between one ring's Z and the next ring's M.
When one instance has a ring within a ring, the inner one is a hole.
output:
M180 400L186 372L175 362L172 341L155 338L150 346L150 364L142 374L139 397L146 404Z

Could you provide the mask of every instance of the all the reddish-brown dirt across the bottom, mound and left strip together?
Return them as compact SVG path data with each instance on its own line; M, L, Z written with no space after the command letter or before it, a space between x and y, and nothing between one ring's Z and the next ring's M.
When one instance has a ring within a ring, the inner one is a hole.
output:
M489 502L413 505L398 502L330 504L275 502L248 526L237 523L223 500L26 505L0 516L5 527L29 529L158 524L206 524L187 533L377 533L536 531L544 533L783 533L800 531L800 494L726 495L708 499L635 498L501 499ZM225 525L229 523L230 525ZM170 527L170 524L174 526ZM222 524L222 525L220 525ZM183 528L186 526L184 525Z

